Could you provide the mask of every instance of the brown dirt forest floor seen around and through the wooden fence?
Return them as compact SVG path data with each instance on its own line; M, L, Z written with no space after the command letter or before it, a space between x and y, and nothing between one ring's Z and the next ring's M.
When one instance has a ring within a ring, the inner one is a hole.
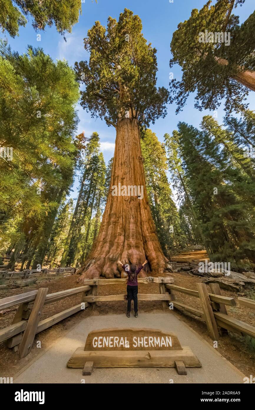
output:
M180 253L173 257L173 260L193 260L199 259L203 260L207 257L205 251L195 251ZM196 290L196 284L203 282L203 278L195 277L189 275L187 272L174 272L165 273L165 276L171 276L174 278L174 284L182 287L187 287L189 289ZM65 278L56 280L44 280L31 287L23 287L18 289L0 289L0 298L5 298L7 296L13 296L16 294L29 292L39 287L47 287L48 293L59 292L65 289L71 289L80 286L77 284L76 280L79 275L71 275ZM208 288L209 290L209 288ZM158 293L158 284L140 284L140 293ZM254 289L244 289L243 292L230 292L221 291L223 296L235 297L237 301L237 296L244 296L247 298L255 299ZM98 287L98 295L110 295L110 294L122 294L125 293L125 285L107 285ZM198 298L192 296L181 294L175 292L176 300L186 303L201 309L200 301ZM61 312L69 307L77 305L81 301L81 294L65 298L61 301L46 305L43 308L43 313L41 320L46 317L50 317L58 312ZM228 314L236 319L242 320L252 326L255 326L255 312L243 307L237 303L235 307L227 306ZM0 315L0 328L5 328L9 326L14 318L15 310ZM47 348L52 344L54 340L61 337L63 332L72 328L78 321L84 317L91 315L106 315L106 314L123 314L126 313L126 303L120 302L97 302L97 306L92 309L92 307L86 308L86 310L78 312L67 319L57 323L56 325L48 328L38 334L35 340L41 341L42 348ZM139 314L142 312L162 312L162 305L159 301L140 301L139 302ZM193 330L195 330L199 335L201 335L210 345L212 345L212 339L208 336L208 331L205 326L205 322L201 318L194 318L192 315L183 314L178 312L178 317L187 323ZM40 350L40 349L39 349ZM255 374L255 347L254 344L250 344L247 339L239 337L236 334L229 333L228 335L221 337L218 342L217 351L223 355L227 360L229 360L235 367L242 371L245 375ZM0 376L12 377L16 372L28 364L32 359L36 357L40 352L36 348L36 343L32 348L31 353L27 355L24 359L19 360L18 353L12 353L9 348L7 348L4 342L0 343Z

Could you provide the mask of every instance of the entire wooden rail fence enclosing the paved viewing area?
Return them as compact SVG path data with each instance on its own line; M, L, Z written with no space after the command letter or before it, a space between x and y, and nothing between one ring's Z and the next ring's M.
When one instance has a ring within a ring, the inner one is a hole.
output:
M49 328L76 312L84 310L88 306L94 307L96 302L126 301L126 293L107 296L97 295L97 287L99 285L120 285L121 283L124 285L126 282L127 279L95 278L84 280L84 285L81 287L52 294L47 294L47 288L41 288L32 292L0 299L0 310L18 305L13 323L0 330L0 342L6 341L6 345L14 351L18 350L20 358L23 358L31 351L35 335L42 330ZM255 327L228 316L226 305L235 306L236 302L234 298L222 296L218 284L210 284L212 293L208 293L204 283L197 284L198 290L196 291L174 285L174 279L169 277L139 278L138 283L157 283L159 287L159 293L138 294L139 300L161 301L164 308L169 305L171 307L171 303L173 303L173 307L176 309L203 318L213 340L218 340L219 336L224 335L227 330L239 335L255 337ZM200 298L202 310L176 301L173 292L181 292ZM43 306L76 294L82 294L81 303L40 321ZM255 301L247 298L238 298L238 301L241 305L255 310Z

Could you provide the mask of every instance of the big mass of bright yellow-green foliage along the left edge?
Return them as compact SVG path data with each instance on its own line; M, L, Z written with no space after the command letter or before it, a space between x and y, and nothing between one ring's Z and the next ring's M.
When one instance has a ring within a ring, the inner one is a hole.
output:
M30 46L18 55L5 43L0 86L0 144L13 150L11 160L0 158L0 229L12 232L3 246L24 235L31 248L50 227L49 220L53 223L72 185L79 87L67 62L54 63Z

